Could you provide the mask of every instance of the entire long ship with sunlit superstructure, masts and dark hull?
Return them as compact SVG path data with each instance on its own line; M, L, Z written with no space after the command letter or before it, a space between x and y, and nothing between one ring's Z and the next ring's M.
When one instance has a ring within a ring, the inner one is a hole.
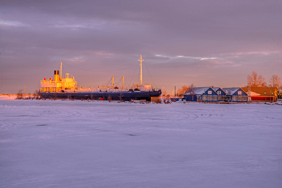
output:
M74 76L66 74L62 77L62 62L60 71L54 71L54 78L42 79L40 81L39 95L44 99L88 99L88 100L118 100L118 101L151 101L151 97L156 99L161 95L161 90L150 85L142 84L142 56L140 56L140 81L136 88L124 88L114 86L114 76L112 76L111 86L99 86L98 88L78 87Z

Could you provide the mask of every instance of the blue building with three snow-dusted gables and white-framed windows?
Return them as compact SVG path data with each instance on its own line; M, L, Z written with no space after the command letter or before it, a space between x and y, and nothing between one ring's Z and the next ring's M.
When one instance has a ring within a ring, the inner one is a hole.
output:
M241 88L195 87L183 96L191 102L247 102L247 94Z

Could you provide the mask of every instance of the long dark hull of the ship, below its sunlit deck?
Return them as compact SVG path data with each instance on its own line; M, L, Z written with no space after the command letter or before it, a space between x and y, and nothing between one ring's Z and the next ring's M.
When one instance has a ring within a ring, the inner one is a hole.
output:
M40 92L41 98L69 98L69 99L91 99L99 100L123 100L131 101L133 100L142 100L147 101L151 100L151 96L160 96L161 90L159 91L134 91L134 92L72 92L72 93L62 93L62 92L50 92L43 93Z

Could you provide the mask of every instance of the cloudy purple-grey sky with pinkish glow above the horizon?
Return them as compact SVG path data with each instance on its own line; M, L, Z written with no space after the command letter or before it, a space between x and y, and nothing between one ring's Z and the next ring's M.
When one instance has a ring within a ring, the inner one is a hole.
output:
M79 86L244 87L282 77L281 0L1 0L0 93L40 88L63 63Z

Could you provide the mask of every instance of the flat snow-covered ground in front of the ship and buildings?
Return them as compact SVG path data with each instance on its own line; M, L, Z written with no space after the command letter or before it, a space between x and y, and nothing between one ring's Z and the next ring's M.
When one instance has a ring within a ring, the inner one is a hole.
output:
M282 106L0 97L0 187L281 188Z

